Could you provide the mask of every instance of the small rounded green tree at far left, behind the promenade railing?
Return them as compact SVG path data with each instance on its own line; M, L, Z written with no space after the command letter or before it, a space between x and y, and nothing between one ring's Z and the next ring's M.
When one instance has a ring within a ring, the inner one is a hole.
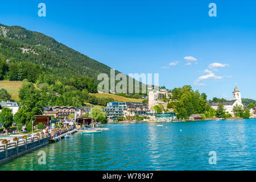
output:
M2 112L0 114L0 124L3 125L6 131L6 135L8 134L8 129L13 123L13 114L11 113L11 109L7 107L3 107Z

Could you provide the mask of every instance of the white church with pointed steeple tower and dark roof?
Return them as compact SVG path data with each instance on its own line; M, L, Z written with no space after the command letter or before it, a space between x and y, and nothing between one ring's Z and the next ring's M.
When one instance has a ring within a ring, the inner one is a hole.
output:
M217 110L219 104L224 106L225 111L228 111L234 117L233 108L234 106L243 106L241 92L238 90L237 86L234 88L232 92L233 100L228 102L209 102L208 105L211 106L214 110Z

